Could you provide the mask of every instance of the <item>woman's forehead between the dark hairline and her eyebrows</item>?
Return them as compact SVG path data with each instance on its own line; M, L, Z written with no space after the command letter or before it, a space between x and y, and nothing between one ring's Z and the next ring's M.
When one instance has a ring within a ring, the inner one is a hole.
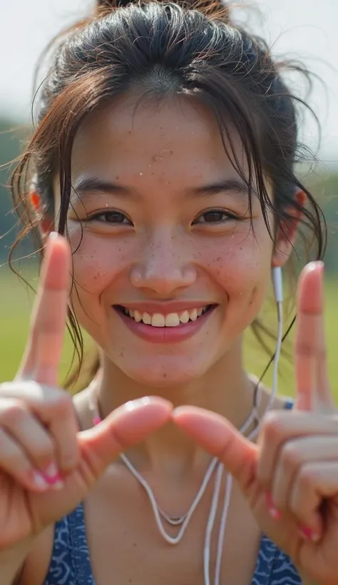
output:
M233 132L232 140L244 170L245 156ZM160 103L137 96L120 98L88 115L73 145L73 175L115 173L122 180L140 173L178 177L207 173L215 178L215 173L224 176L227 169L235 172L215 117L184 96Z

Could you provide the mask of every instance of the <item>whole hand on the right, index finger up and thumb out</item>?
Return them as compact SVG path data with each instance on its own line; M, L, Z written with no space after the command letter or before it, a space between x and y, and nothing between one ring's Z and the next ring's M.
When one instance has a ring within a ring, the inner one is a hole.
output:
M338 413L327 375L323 304L322 265L311 263L298 287L295 407L268 413L257 445L215 413L187 406L173 417L224 462L262 531L299 574L337 585Z

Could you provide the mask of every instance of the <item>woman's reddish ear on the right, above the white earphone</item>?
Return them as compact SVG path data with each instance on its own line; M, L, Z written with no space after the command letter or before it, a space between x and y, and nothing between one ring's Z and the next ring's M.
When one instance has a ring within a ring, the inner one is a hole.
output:
M297 190L295 199L300 208L303 208L307 200L307 195L302 190ZM299 222L302 218L302 211L294 207L287 208L287 213L290 217L287 221L282 221L276 230L276 240L274 251L272 254L272 267L283 266L287 262L291 252L292 246L295 243Z

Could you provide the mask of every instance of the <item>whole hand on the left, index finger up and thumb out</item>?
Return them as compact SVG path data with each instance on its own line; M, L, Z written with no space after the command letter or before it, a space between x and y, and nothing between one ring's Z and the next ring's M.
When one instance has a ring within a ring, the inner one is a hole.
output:
M71 251L49 238L19 374L0 385L0 550L71 512L118 454L170 419L160 398L135 400L78 432L71 397L57 387Z

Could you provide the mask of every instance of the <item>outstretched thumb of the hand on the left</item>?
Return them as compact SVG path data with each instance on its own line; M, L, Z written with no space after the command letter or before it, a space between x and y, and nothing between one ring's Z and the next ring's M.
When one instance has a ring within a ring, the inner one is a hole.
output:
M118 454L170 420L173 405L159 397L127 402L100 424L78 433L82 456L98 478Z

